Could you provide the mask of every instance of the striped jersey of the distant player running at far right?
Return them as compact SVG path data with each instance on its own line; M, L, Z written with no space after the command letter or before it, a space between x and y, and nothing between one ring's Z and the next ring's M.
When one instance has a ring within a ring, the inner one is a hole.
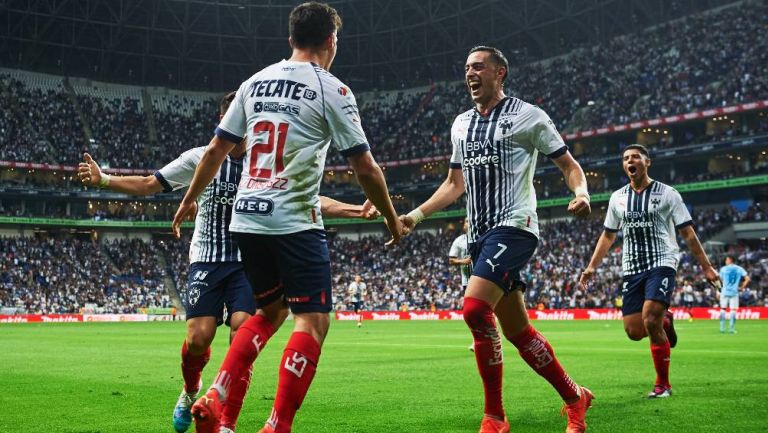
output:
M676 229L693 224L680 193L651 181L637 193L626 185L611 194L605 230L623 231L622 271L634 275L667 266L677 269L680 247Z

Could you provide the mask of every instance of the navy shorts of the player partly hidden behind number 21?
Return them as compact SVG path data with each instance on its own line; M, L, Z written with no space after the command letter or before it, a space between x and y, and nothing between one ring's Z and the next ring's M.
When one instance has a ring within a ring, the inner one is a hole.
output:
M240 262L192 263L189 265L187 291L182 298L187 319L213 316L222 323L226 306L226 323L229 325L234 313L256 312L253 291Z

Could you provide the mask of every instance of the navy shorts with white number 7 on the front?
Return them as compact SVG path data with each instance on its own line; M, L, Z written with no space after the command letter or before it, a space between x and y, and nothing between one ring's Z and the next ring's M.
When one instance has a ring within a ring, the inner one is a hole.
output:
M472 257L472 275L494 282L508 294L525 290L520 281L520 270L536 251L539 239L525 230L514 227L496 227L469 244Z

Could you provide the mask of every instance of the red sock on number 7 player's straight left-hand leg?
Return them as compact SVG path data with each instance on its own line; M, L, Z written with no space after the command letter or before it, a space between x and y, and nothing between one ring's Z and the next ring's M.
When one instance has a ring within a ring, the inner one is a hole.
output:
M503 354L493 308L476 298L464 298L464 321L475 340L475 360L485 393L485 414L504 419L501 400Z

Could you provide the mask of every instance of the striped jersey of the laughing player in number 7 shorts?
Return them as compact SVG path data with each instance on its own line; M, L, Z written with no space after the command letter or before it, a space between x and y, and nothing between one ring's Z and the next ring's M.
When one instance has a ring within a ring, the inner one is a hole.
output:
M451 142L451 168L464 174L469 242L499 226L538 236L536 158L539 152L557 158L568 151L547 113L520 99L504 98L487 116L475 109L457 116Z

